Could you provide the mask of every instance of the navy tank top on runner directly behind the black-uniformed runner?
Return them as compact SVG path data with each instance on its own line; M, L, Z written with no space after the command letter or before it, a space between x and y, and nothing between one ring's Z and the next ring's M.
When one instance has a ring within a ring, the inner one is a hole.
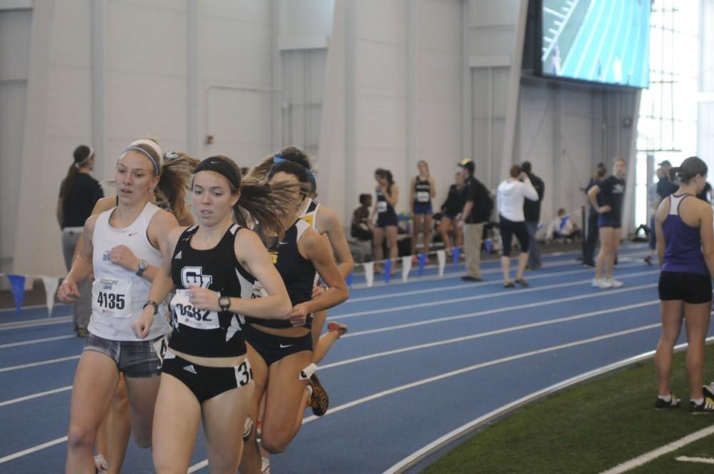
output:
M295 306L312 299L312 289L315 283L315 267L312 262L303 258L298 251L298 241L303 233L310 228L309 224L298 219L281 239L276 239L273 245L268 247L268 253L273 260L276 270L280 273L285 283L285 288L290 296L290 303ZM253 285L253 298L266 296L266 292L260 282ZM265 326L266 328L292 328L290 321L286 319L263 319L246 318L250 324ZM308 315L305 323L306 328L312 327L312 315Z

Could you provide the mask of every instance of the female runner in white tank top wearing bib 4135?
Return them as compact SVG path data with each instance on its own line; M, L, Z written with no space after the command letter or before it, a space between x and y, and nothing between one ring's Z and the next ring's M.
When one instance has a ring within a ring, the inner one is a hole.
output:
M102 418L124 373L131 430L136 444L151 446L161 360L155 350L169 333L166 308L156 315L149 340L131 328L141 315L149 284L161 265L163 238L178 226L171 213L150 202L161 175L163 153L155 141L134 141L121 153L115 180L116 208L84 225L79 256L58 290L61 301L79 296L76 283L94 273L89 336L72 390L67 473L94 473L94 443Z

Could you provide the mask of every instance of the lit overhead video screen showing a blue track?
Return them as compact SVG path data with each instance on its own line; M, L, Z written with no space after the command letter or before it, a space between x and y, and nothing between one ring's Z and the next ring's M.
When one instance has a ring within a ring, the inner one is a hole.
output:
M542 0L544 76L649 86L650 0Z

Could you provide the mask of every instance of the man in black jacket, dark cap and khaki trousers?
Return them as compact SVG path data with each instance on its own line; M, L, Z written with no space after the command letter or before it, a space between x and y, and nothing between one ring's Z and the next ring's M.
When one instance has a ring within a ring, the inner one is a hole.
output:
M481 242L483 241L483 225L488 222L493 210L493 200L486 186L473 177L475 166L473 160L464 158L458 163L463 176L461 201L463 211L458 222L463 226L463 251L466 253L466 276L464 281L482 281L481 278Z

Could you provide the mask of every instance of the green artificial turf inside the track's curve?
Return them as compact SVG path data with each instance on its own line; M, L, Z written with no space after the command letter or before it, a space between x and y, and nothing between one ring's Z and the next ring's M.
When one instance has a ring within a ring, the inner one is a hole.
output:
M680 408L654 409L657 380L648 360L517 410L423 472L598 473L712 425L714 414L689 413L684 356L675 354L673 365L672 389L683 400ZM706 360L714 360L714 346L707 347ZM632 472L713 473L714 465L674 460L706 453L714 458L711 436Z

